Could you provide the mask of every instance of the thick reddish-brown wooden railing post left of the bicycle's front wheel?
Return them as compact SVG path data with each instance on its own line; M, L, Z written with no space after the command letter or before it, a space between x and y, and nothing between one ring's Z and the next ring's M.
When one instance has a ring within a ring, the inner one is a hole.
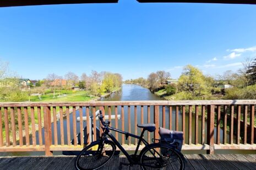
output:
M45 128L45 155L52 156L50 146L52 145L51 107L43 107L43 119Z

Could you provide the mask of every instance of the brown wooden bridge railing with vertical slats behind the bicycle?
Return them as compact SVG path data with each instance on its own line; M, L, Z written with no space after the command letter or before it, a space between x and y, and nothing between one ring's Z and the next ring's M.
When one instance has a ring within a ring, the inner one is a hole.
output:
M112 127L129 133L141 133L137 123L155 123L156 131L144 136L149 143L151 138L159 138L159 127L164 127L183 131L183 150L207 150L209 154L215 149L256 150L255 104L256 100L0 103L0 151L45 151L52 155L52 151L81 150L84 143L91 142L89 126L84 141L84 127L90 119L77 122L77 117L92 116L92 123L99 126L97 109L108 114ZM93 132L91 140L96 140L96 126ZM113 134L127 150L138 142Z

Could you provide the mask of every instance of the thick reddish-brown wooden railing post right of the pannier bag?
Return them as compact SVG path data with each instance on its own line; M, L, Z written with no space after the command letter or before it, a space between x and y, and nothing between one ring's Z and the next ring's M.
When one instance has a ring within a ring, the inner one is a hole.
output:
M208 105L207 110L207 144L210 149L207 154L214 154L214 105Z

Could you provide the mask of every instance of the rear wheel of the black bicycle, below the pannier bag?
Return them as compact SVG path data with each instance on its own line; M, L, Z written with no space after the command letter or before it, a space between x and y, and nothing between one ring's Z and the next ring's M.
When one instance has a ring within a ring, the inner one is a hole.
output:
M151 144L143 149L140 154L142 169L178 169L184 167L183 160L177 151L170 146Z

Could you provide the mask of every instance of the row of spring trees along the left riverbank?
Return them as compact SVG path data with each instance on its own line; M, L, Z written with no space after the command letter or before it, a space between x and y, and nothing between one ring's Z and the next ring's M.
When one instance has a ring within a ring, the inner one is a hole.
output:
M80 77L73 72L64 76L56 73L49 74L43 80L36 83L28 83L25 86L20 83L20 78L8 71L6 63L0 63L0 100L1 101L30 101L32 94L41 95L51 91L53 98L63 93L70 93L70 90L79 88L86 90L89 95L100 96L110 93L122 85L122 75L111 72L91 71L90 75L83 73Z

